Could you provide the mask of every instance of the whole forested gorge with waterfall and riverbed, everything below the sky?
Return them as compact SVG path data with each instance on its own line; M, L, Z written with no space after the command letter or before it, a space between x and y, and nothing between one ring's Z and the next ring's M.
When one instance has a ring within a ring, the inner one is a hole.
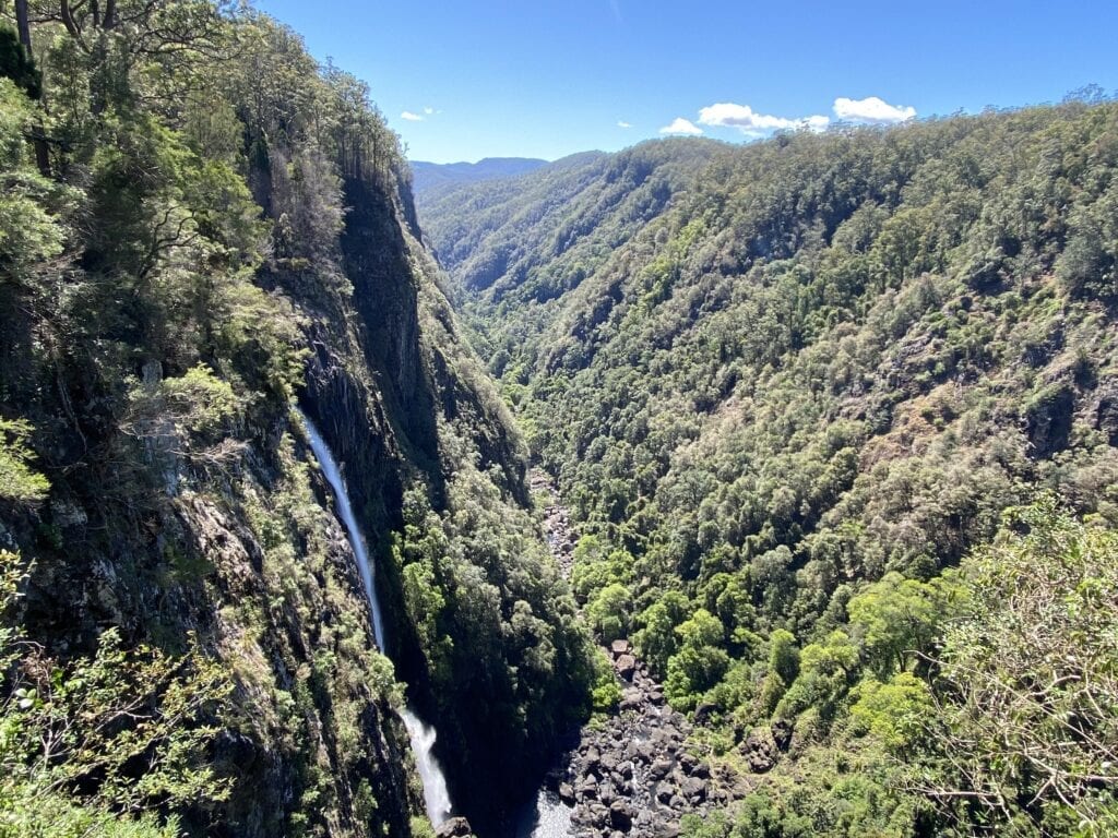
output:
M1118 104L373 93L0 3L0 838L1118 832Z

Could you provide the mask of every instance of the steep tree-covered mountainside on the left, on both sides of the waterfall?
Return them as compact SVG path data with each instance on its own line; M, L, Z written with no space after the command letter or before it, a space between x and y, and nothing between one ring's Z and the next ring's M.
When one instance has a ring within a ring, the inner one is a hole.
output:
M427 834L405 680L500 819L594 675L366 86L235 3L0 4L0 835Z

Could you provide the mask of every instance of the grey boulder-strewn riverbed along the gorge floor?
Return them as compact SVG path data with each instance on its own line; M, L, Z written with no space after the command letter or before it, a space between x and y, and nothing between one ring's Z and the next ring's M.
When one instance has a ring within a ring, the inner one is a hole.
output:
M570 516L548 475L534 470L531 486L544 498L548 543L569 575ZM690 723L667 706L663 687L629 641L617 640L606 651L623 685L622 701L604 723L581 731L577 747L549 774L538 825L525 832L534 838L674 838L684 815L702 816L733 797L732 778L718 775L688 747Z

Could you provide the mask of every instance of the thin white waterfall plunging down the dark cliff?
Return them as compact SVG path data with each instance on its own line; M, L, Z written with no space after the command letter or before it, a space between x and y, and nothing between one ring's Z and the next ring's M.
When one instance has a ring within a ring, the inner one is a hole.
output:
M326 440L319 434L307 416L296 408L303 427L306 428L306 437L311 442L311 450L314 451L319 465L322 467L322 475L333 489L337 502L338 515L345 525L350 544L353 546L353 554L357 556L358 569L361 571L361 581L364 583L364 596L369 600L369 612L372 615L372 632L377 640L377 648L385 651L385 623L380 616L380 601L377 599L377 580L372 573L372 562L369 561L369 551L361 535L361 528L357 525L353 516L353 507L350 504L349 492L345 488L345 480L342 478L341 469L334 460ZM435 759L433 749L435 746L435 729L424 724L415 714L411 707L400 711L404 726L408 731L411 740L411 751L415 754L416 768L419 771L419 779L423 780L424 802L427 806L427 817L436 827L451 817L451 794L446 790L446 778L443 769Z

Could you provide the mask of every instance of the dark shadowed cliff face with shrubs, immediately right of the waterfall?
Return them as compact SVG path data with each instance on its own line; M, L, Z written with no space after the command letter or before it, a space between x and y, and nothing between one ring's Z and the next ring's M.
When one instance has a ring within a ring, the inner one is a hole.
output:
M585 638L527 512L522 444L408 222L410 197L353 182L345 197L351 303L309 317L304 401L345 464L389 651L437 722L455 801L500 830L585 713ZM322 305L274 279L307 313Z

